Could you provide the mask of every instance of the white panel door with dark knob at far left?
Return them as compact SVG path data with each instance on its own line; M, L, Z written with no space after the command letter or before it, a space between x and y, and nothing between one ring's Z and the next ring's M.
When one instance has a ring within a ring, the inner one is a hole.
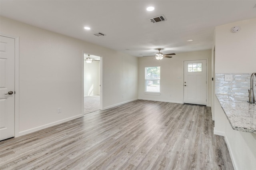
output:
M0 36L0 140L13 136L14 38Z

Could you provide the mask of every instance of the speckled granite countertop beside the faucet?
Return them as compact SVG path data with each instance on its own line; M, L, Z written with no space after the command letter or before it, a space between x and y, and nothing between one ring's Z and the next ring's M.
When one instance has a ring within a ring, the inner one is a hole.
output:
M239 95L216 94L216 97L234 130L256 133L256 104Z

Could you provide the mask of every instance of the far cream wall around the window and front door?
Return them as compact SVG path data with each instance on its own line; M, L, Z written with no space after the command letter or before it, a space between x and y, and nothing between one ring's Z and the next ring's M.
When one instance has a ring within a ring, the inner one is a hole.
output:
M208 59L208 106L211 105L211 50L177 53L172 58L164 58L158 62L153 57L139 58L139 99L183 103L183 65L185 60ZM161 95L146 95L145 91L145 67L161 66ZM180 77L180 78L178 78ZM210 82L210 83L209 83Z

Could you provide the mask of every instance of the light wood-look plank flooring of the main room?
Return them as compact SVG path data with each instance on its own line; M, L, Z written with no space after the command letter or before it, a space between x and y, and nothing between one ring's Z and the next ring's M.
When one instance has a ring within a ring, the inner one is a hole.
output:
M0 142L0 169L233 170L210 107L137 100Z

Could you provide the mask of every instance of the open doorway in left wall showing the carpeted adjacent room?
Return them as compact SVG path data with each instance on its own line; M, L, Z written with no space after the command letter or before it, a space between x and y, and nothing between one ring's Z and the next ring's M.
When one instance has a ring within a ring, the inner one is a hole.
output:
M84 114L101 109L101 57L84 53Z

